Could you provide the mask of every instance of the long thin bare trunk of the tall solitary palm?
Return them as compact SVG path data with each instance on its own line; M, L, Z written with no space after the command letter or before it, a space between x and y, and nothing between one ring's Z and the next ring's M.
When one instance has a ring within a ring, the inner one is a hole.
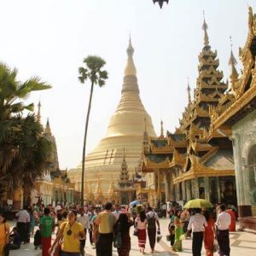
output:
M81 205L84 206L84 171L85 171L85 147L86 147L86 138L87 138L87 130L89 125L90 118L90 107L91 107L91 99L93 94L94 82L92 81L90 84L90 100L88 104L86 122L85 122L85 131L84 131L84 145L83 145L83 157L82 157L82 183L81 183Z

